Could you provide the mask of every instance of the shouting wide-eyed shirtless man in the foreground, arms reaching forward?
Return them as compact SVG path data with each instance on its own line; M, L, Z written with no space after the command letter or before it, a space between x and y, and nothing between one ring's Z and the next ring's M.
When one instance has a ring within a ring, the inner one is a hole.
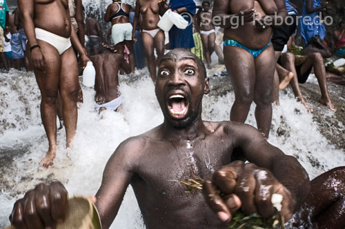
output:
M278 192L284 196L282 212L288 219L308 195L306 171L294 157L286 156L271 146L255 128L242 123L201 120L201 99L210 91L203 69L197 57L186 50L172 50L161 60L155 92L164 123L143 135L127 139L110 157L96 195L103 228L109 228L116 217L129 184L135 191L146 228L150 229L227 228L224 221L230 219L230 210L215 194L215 185L221 179L233 179L233 175L237 175L237 184L241 187L232 191L226 190L225 186L219 188L233 194L234 198L236 195L248 212L255 210L265 215L272 214L272 203L265 199ZM185 111L181 112L181 108ZM253 163L245 166L240 161L231 163L236 147L243 149L249 161L264 168ZM186 186L176 182L190 177L210 177L205 183L205 195L211 208L203 201L202 192L186 193ZM233 180L231 184L234 184ZM62 185L56 191L51 186L46 187L50 189L50 195L59 193L63 201L54 204L54 208L59 206L59 215L66 214L66 190ZM244 193L247 188L249 195ZM253 195L254 188L266 188L268 192ZM47 197L47 194L34 192L34 199L27 195L15 204L11 216L15 226L23 225L27 208L34 215L25 220L28 229L32 228L30 225L44 225L49 221L40 219L37 212L44 206L42 195ZM215 197L213 201L209 195ZM50 208L52 206L50 204ZM239 206L241 204L237 201L236 208ZM227 219L224 219L224 214L218 218L213 212L219 212L219 209L224 211Z

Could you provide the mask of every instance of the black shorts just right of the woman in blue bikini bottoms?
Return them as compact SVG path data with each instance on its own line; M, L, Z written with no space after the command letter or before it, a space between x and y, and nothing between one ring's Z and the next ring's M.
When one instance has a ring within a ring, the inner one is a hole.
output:
M297 14L289 15L281 27L273 28L272 43L275 51L282 52L288 39L295 33L297 28Z

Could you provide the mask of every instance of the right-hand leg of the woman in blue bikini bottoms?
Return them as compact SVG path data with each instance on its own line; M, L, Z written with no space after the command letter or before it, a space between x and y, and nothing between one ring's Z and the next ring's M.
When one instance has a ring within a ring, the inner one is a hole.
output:
M268 138L272 121L273 78L275 54L271 44L255 59L255 118L257 128Z

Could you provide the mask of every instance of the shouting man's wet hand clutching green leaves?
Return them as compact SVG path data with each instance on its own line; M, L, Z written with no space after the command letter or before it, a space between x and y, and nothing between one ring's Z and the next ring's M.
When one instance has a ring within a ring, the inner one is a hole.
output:
M275 193L283 196L280 214L288 221L293 215L295 199L265 168L234 161L217 170L204 183L206 201L224 222L229 222L239 208L245 214L259 213L263 217L274 215L271 199Z

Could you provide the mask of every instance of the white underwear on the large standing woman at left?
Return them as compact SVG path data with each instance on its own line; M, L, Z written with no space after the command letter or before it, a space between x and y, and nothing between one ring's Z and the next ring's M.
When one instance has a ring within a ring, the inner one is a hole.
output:
M59 54L63 54L63 52L72 46L69 37L61 37L52 32L48 32L47 30L42 30L41 28L34 28L34 32L36 33L36 39L50 43L57 49Z

